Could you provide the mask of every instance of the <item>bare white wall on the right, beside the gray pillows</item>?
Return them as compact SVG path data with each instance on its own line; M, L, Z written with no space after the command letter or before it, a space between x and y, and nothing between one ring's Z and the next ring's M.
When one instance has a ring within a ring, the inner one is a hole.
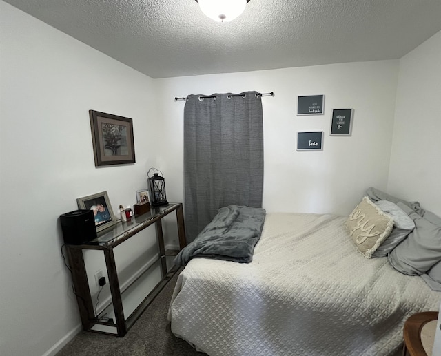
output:
M441 32L400 60L388 189L441 216Z

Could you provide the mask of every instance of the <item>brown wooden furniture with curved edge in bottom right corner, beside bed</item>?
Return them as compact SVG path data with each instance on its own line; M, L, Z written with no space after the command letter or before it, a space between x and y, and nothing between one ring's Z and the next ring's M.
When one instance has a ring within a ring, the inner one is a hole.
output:
M432 355L438 311L424 311L409 317L404 323L403 356Z

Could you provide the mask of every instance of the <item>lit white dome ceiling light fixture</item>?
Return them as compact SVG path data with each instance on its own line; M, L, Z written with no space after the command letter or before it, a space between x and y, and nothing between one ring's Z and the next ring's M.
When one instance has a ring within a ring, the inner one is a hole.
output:
M210 19L218 22L228 22L236 19L249 0L196 0L201 11Z

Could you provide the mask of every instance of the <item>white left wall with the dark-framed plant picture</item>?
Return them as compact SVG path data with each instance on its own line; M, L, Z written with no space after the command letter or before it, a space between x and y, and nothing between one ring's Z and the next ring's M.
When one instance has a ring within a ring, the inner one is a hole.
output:
M80 330L59 215L99 191L114 210L132 205L161 127L152 78L3 1L0 12L0 354L43 355ZM94 166L90 109L133 119L134 165Z

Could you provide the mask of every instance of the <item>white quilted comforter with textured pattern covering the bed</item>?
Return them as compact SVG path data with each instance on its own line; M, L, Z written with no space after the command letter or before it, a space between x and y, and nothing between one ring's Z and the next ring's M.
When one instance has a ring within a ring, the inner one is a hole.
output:
M174 335L210 356L394 355L440 292L366 259L334 215L267 214L253 261L196 258L170 304Z

